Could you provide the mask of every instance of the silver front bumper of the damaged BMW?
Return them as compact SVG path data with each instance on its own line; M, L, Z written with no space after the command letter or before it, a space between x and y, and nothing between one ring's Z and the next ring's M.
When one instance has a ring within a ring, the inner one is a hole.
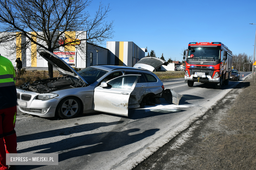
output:
M38 100L36 99L39 93L35 92L28 92L20 89L16 89L17 93L20 93L20 97L17 99L17 102L22 104L18 105L18 108L23 113L28 113L31 115L37 115L40 117L54 117L55 110L57 104L60 99L52 98L49 100ZM21 95L31 95L31 98L24 98L22 99ZM17 95L18 96L18 95ZM47 111L42 114L42 109L46 109Z

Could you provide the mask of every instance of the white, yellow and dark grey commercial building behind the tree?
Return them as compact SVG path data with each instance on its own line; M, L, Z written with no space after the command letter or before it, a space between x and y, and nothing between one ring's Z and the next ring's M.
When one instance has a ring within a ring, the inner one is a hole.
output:
M75 35L74 31L67 31L65 35L69 37L74 37L74 39L85 39L85 34ZM36 37L33 37L34 41L40 43ZM68 41L70 39L67 39ZM30 47L27 49L22 49L21 52L13 52L11 47L19 46L28 42L27 37L17 36L16 41L10 43L9 45L0 44L0 54L7 57L12 61L12 64L16 66L16 58L21 58L23 63L23 68L27 69L45 69L48 68L48 62L43 59L36 52L38 46L31 43ZM43 44L44 42L41 42ZM63 43L59 41L59 43ZM82 50L75 48L73 45L66 45L65 47L60 47L53 53L67 62L70 66L76 68L86 68L93 65L107 64L107 65L122 65L122 66L134 66L139 59L145 57L145 48L140 48L134 42L110 42L106 43L106 48L93 45L86 41L81 41L75 45L81 45ZM85 52L85 53L84 53Z

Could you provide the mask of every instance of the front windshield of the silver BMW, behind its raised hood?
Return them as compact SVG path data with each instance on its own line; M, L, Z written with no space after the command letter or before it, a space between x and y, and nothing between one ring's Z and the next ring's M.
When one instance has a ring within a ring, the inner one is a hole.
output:
M83 79L89 84L95 83L100 77L102 77L106 73L108 73L108 71L101 70L94 67L87 67L78 72L78 74L81 77L83 77Z

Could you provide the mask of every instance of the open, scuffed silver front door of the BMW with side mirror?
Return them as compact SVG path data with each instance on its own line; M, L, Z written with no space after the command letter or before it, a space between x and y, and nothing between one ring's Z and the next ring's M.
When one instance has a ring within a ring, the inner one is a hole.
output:
M128 116L128 101L140 75L124 75L94 89L94 110Z

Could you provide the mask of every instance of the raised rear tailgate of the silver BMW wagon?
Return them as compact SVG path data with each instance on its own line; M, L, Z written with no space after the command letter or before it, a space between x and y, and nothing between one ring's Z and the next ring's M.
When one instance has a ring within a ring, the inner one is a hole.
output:
M157 69L161 65L168 65L168 64L169 64L168 62L156 57L144 57L140 59L133 67L143 68L153 72L155 69Z

